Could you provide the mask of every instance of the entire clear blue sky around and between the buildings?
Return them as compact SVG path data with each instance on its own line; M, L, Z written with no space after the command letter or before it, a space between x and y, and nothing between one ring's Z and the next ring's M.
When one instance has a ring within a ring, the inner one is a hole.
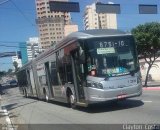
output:
M35 23L36 7L35 0L0 0L0 53L17 51L18 48L4 47L2 45L18 46L19 42L25 42L29 37L38 36L38 28ZM80 13L71 13L72 21L78 24L79 30L83 30L83 14L86 5L90 5L96 0L70 0L80 3ZM122 14L117 15L118 28L129 30L139 23L147 21L160 21L160 15L138 16L139 3L157 4L159 0L99 0L107 3L122 3ZM131 6L137 5L137 6ZM159 3L160 4L160 3ZM160 12L160 8L158 8ZM0 71L12 68L11 58L0 58Z

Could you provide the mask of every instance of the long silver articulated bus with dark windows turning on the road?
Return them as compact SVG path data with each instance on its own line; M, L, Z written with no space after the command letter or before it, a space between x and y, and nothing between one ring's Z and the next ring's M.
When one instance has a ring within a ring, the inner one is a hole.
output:
M134 38L119 30L72 33L23 66L17 78L26 97L71 107L142 94Z

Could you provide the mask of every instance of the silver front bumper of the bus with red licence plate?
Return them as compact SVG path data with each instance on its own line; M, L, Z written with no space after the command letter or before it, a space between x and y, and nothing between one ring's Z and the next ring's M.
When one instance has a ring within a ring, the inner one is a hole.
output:
M140 96L142 94L142 86L141 84L137 84L135 86L117 89L96 89L88 87L85 92L88 104L92 104Z

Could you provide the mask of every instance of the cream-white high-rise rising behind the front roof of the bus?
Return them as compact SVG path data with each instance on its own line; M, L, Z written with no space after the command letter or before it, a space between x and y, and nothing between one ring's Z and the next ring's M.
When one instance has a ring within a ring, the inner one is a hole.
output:
M89 29L117 29L117 15L111 13L96 13L96 4L86 6L84 27Z

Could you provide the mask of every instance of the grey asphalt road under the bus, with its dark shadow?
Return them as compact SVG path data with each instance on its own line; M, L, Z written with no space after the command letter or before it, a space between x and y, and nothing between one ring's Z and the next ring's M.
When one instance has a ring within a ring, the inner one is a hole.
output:
M12 123L29 124L27 128L33 130L53 129L51 124L56 124L55 129L58 127L58 129L70 130L75 128L100 130L103 126L101 124L160 124L160 91L145 90L142 96L120 101L117 104L97 104L89 108L79 107L76 110L63 103L46 103L24 98L18 88L7 88L3 92L5 94L2 95L1 105L3 109L9 111ZM99 125L95 126L95 124ZM38 128L35 128L37 126ZM119 126L104 125L102 129L106 127L113 129ZM127 127L122 129L125 128Z

